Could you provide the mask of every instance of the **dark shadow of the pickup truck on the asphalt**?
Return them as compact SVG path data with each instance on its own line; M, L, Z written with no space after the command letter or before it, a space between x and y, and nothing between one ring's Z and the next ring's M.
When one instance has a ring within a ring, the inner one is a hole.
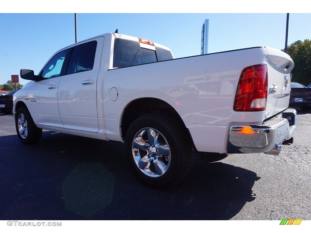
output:
M0 145L0 220L228 220L260 179L198 155L181 183L156 190L132 174L122 143L44 131L36 145Z

